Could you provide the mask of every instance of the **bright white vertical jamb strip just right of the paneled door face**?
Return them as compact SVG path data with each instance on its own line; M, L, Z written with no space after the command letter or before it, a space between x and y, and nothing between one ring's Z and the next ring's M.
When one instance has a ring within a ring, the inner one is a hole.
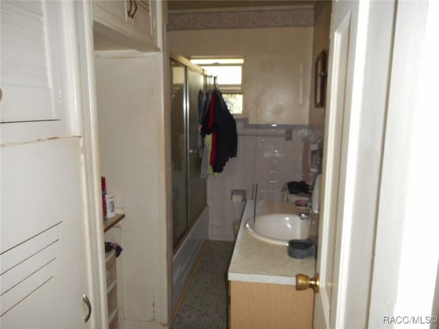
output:
M344 291L337 317L342 321L337 326L344 328L366 328L368 321L395 10L395 1L359 3L357 42L358 38L364 40L357 43L355 54L361 66L354 79L361 81L355 83L359 97L353 103L355 114L351 117L356 133L349 139L355 151L348 164L351 188L346 194L352 195L352 204L347 216L349 227L344 231L348 243L342 247L345 267L340 287Z

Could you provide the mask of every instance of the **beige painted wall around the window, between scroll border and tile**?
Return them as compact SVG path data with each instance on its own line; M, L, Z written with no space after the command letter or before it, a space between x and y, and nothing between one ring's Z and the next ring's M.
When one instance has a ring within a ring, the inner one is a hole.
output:
M244 115L250 123L306 125L313 27L171 31L182 56L244 56Z

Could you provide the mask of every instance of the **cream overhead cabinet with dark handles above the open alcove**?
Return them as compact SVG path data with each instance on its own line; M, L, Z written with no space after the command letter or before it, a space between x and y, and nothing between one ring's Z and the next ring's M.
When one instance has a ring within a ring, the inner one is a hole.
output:
M158 51L156 1L93 1L93 30L125 47Z

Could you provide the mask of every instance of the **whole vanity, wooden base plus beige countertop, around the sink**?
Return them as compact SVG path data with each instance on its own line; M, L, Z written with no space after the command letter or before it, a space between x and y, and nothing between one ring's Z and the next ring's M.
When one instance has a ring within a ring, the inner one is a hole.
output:
M296 291L296 274L313 276L314 257L294 259L287 245L274 245L251 236L244 223L253 217L248 200L228 269L230 328L312 328L313 290ZM298 213L294 203L258 202L257 215Z

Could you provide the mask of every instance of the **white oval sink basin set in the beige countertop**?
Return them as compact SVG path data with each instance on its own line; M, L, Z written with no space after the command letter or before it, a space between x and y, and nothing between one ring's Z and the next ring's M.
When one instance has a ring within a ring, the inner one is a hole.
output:
M254 238L274 245L288 245L292 239L307 239L309 225L294 214L268 214L248 219L244 228Z

